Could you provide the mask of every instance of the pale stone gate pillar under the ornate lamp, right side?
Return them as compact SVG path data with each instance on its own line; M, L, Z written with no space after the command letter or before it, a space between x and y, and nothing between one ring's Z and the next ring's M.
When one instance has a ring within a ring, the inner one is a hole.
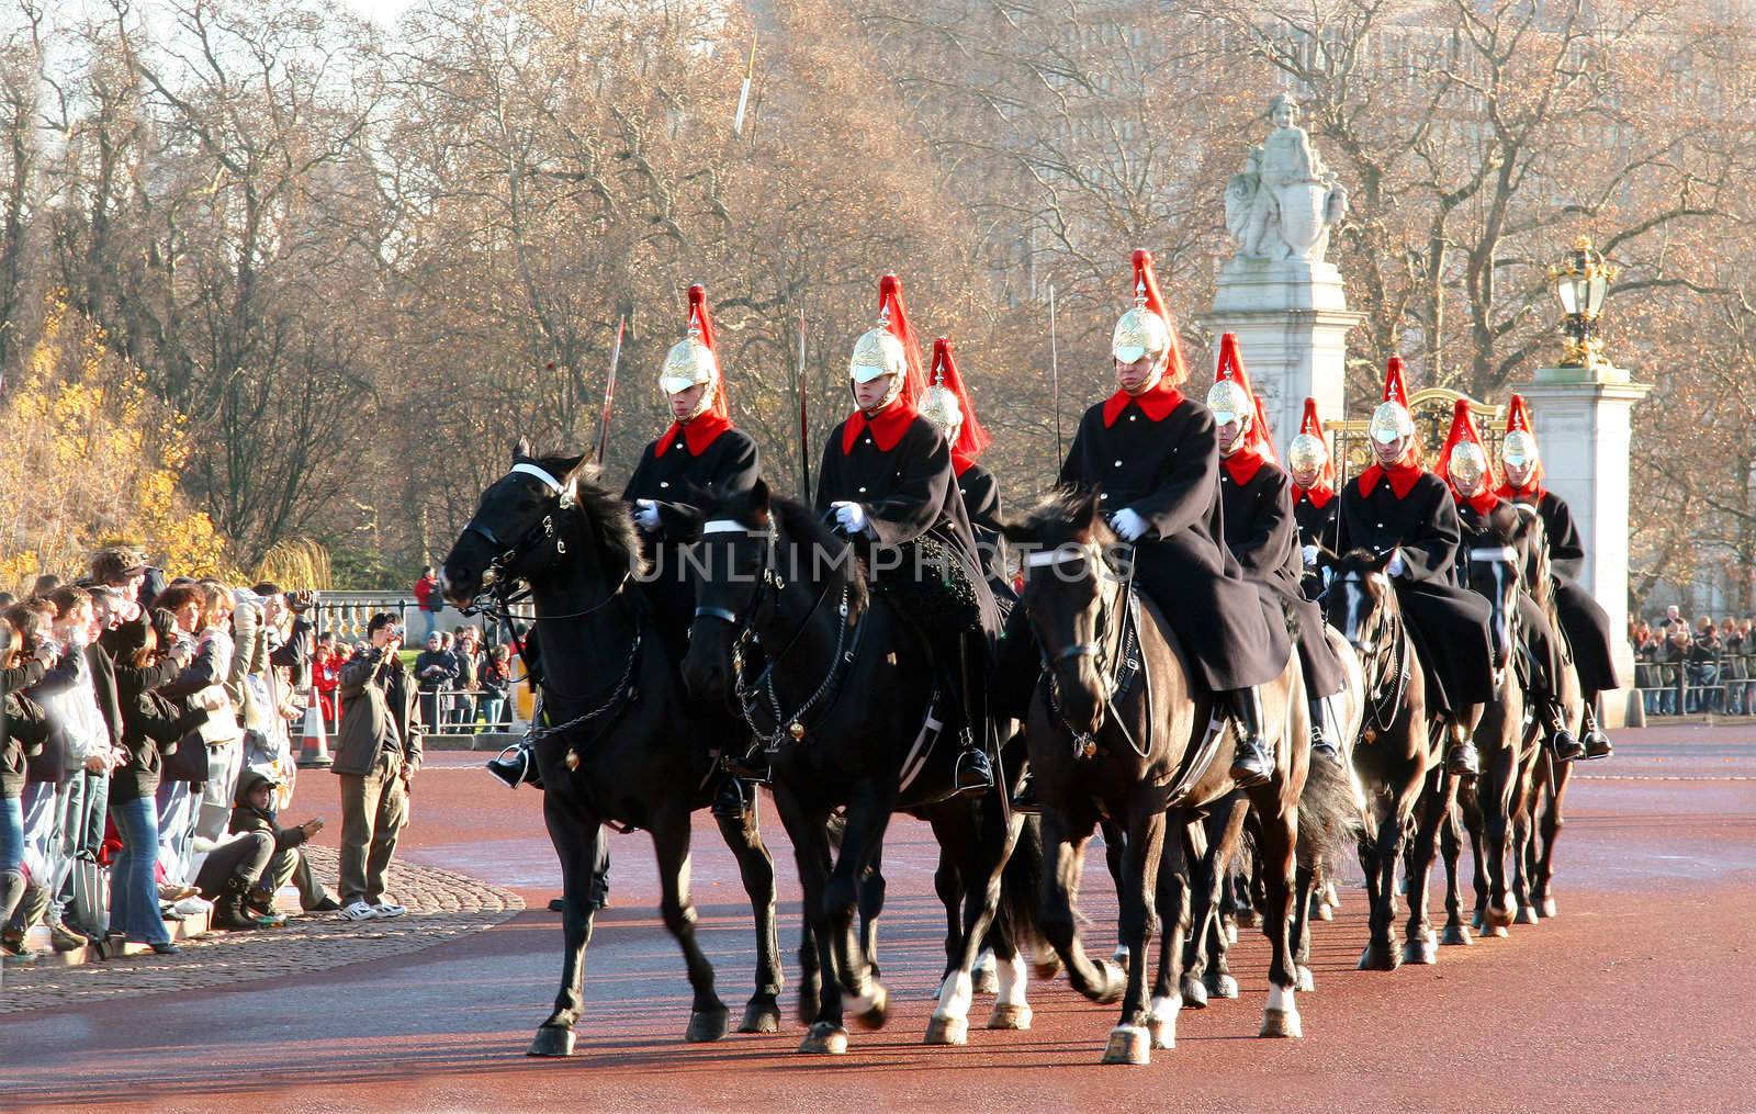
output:
M1633 685L1628 629L1628 446L1633 406L1652 388L1619 367L1544 367L1519 390L1531 404L1544 483L1566 499L1586 545L1580 583L1610 615L1616 669ZM1603 726L1623 726L1628 701L1603 698Z

